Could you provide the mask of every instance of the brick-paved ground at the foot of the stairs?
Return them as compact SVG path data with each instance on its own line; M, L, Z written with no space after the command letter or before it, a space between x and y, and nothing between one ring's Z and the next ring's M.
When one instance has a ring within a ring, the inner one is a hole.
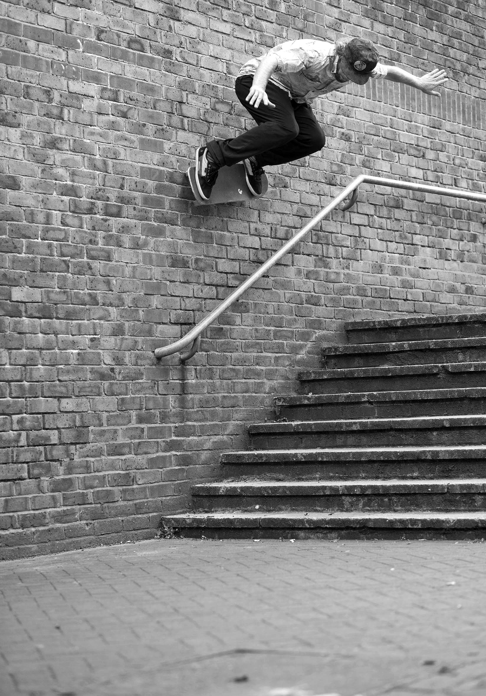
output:
M485 551L161 539L4 562L1 694L484 695Z

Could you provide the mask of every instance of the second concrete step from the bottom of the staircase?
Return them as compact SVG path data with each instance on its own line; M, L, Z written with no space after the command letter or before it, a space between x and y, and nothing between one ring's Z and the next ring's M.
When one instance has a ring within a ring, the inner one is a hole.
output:
M204 512L486 511L486 479L231 481L191 488Z

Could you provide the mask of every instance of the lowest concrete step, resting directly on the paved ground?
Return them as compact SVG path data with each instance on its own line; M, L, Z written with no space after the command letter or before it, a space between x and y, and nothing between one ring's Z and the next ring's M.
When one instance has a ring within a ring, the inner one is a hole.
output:
M164 517L176 535L213 539L478 539L486 512L212 512Z

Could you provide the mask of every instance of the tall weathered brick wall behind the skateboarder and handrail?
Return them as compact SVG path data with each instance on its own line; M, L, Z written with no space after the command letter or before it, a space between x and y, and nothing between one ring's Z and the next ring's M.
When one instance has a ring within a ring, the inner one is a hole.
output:
M343 321L484 308L484 207L363 187L189 364L152 352L363 171L484 191L485 27L480 0L0 2L1 557L155 535ZM446 68L441 99L334 93L320 155L261 200L194 207L195 148L249 125L240 65L343 33Z

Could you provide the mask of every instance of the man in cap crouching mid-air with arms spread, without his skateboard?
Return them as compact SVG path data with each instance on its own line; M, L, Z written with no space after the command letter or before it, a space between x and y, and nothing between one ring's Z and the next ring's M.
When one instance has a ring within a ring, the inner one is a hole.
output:
M402 68L382 65L373 43L358 38L335 43L285 41L245 63L235 91L258 125L237 138L213 140L198 148L196 184L201 198L210 198L221 166L241 161L251 193L260 196L264 166L284 164L324 147L324 132L311 109L315 97L350 81L366 84L370 77L385 77L436 96L440 96L437 88L447 81L444 70L415 77Z

